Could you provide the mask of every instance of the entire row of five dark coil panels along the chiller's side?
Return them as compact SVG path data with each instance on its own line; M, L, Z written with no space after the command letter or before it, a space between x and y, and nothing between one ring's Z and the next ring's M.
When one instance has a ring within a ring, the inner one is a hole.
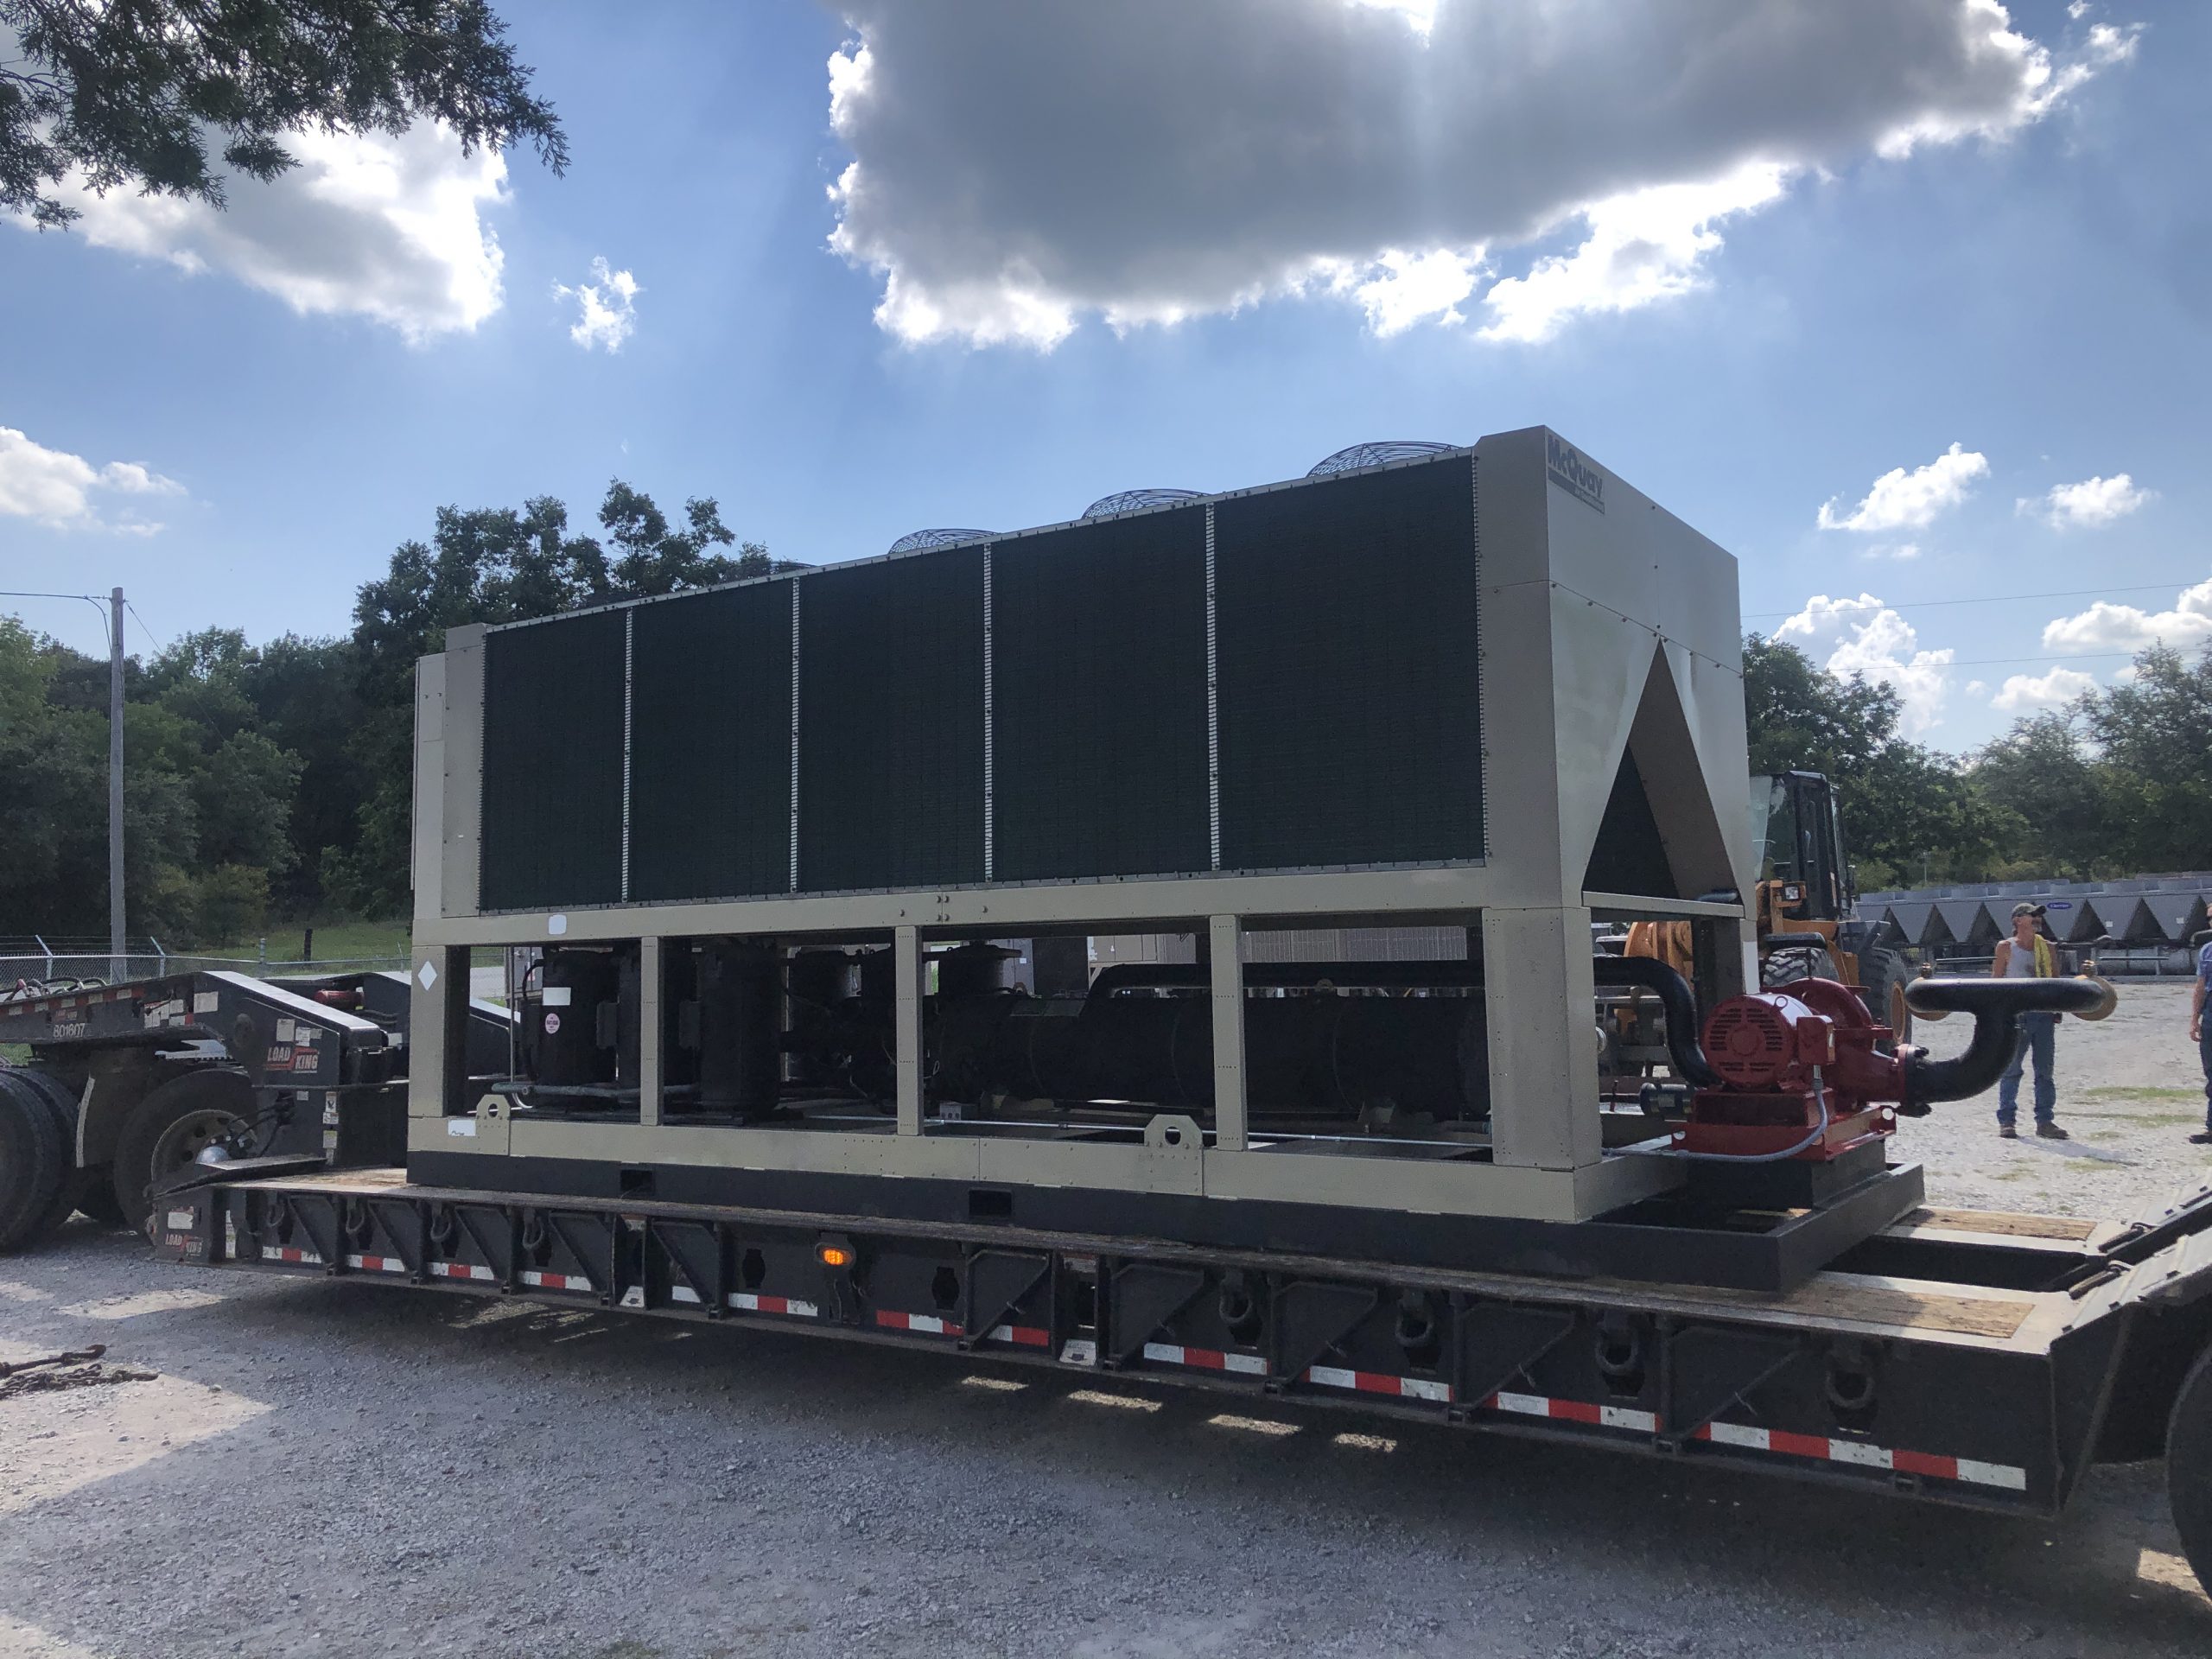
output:
M1475 462L484 637L480 907L1484 856Z

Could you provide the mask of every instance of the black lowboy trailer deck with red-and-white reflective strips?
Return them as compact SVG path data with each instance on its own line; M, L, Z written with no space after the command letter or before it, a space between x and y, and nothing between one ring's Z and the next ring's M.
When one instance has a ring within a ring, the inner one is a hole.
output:
M2093 1462L2146 1455L2115 1402L2170 1389L2212 1327L2212 1186L2143 1223L1918 1210L1770 1294L396 1168L223 1177L161 1197L161 1256L951 1347L2037 1515Z

